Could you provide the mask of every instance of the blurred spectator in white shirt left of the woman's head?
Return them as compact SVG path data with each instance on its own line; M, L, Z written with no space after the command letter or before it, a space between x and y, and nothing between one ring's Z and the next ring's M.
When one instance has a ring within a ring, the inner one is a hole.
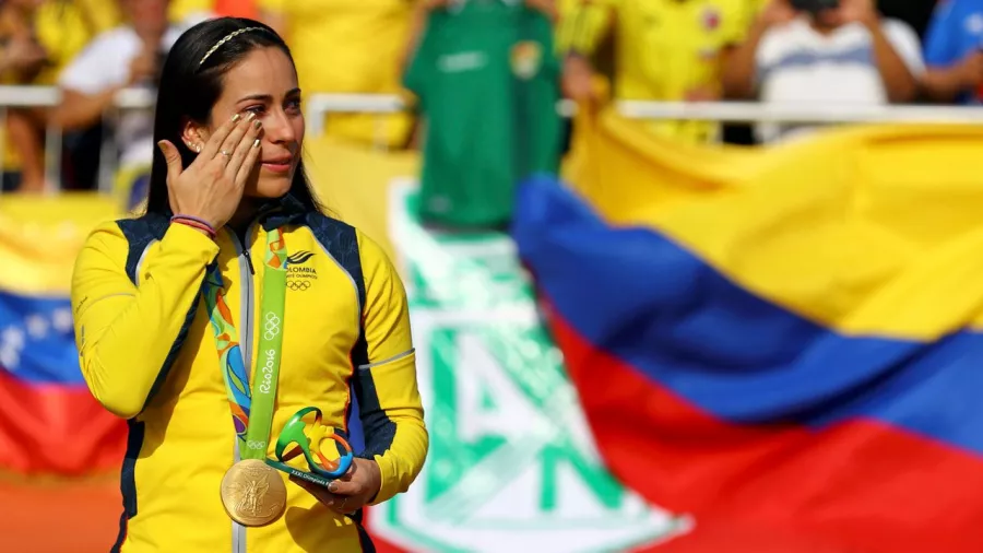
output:
M155 90L164 57L180 35L181 27L167 20L168 0L120 4L127 23L97 35L59 77L62 102L55 117L68 131L97 125L123 89ZM152 109L120 113L115 127L121 166L150 166L153 123Z

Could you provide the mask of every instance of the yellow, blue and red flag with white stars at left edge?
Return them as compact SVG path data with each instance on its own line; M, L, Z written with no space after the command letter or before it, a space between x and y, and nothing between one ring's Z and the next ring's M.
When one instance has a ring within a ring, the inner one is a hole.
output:
M0 469L69 475L119 464L126 430L82 380L69 303L88 230L117 213L87 195L0 203Z

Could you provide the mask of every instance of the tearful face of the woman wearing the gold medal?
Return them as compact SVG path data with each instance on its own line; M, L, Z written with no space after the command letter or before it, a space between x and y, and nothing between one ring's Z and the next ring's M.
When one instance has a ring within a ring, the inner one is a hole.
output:
M199 134L208 141L215 128L234 114L256 114L263 123L262 153L246 181L245 196L280 198L291 189L300 163L304 114L300 89L291 59L276 47L257 48L223 78L222 96L212 108L211 123Z

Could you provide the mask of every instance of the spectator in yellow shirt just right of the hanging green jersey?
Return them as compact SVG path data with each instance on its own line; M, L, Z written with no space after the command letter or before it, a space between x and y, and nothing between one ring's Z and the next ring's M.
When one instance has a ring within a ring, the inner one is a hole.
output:
M722 52L743 40L758 0L564 0L557 44L564 90L593 94L591 56L613 35L614 96L621 99L720 99ZM707 121L649 121L654 134L685 142L719 140Z

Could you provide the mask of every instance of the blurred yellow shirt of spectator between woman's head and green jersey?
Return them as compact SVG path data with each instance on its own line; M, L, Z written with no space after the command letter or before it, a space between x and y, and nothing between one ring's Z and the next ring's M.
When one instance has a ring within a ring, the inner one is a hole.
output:
M401 92L399 59L408 40L413 0L259 0L264 13L286 22L305 95ZM401 144L410 130L404 114L329 114L325 131L363 143Z

